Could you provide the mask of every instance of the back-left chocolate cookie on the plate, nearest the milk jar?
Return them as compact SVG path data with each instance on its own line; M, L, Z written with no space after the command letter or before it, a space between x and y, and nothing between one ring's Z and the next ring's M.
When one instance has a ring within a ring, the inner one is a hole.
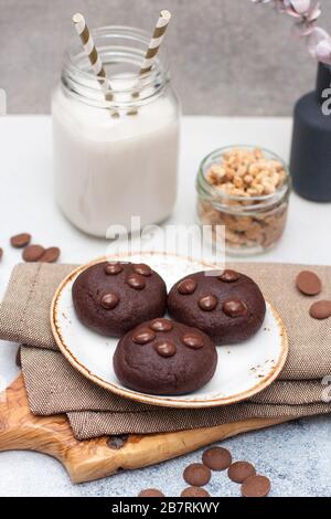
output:
M83 325L106 336L164 315L167 288L148 265L98 263L78 275L73 301Z

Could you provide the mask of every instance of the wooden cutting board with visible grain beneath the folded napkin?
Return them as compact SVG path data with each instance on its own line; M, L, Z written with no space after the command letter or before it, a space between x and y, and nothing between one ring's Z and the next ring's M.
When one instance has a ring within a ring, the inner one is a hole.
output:
M254 419L193 431L130 435L124 442L109 436L78 442L66 415L34 416L31 413L20 374L0 394L0 451L49 454L64 465L73 483L83 483L164 462L213 442L289 420Z

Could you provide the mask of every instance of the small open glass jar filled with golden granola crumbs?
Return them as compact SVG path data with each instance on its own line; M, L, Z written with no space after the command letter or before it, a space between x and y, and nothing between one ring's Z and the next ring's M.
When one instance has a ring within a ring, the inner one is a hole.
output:
M258 254L280 240L291 189L282 159L252 146L213 151L196 178L197 213L212 226L213 240L225 239L226 253Z

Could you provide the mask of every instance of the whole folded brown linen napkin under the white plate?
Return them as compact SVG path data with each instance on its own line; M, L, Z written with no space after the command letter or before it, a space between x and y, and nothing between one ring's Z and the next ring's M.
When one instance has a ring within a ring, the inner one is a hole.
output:
M142 405L108 393L77 373L60 352L52 351L57 348L49 320L51 300L60 282L73 268L73 265L45 264L15 267L0 306L0 338L35 347L22 351L31 410L35 414L68 413L77 438L169 432L246 417L300 417L331 411L331 405L321 403L324 386L319 380L331 373L331 331L327 321L313 321L309 317L311 299L301 296L295 287L302 266L237 265L260 284L286 321L290 354L282 381L249 403L184 412ZM312 268L330 293L331 267Z

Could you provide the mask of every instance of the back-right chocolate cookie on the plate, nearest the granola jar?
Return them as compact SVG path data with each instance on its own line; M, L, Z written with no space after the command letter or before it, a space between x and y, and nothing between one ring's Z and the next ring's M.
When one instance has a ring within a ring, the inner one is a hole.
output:
M231 345L258 331L266 303L256 283L244 274L200 272L171 288L168 309L175 320L200 328L216 345Z

